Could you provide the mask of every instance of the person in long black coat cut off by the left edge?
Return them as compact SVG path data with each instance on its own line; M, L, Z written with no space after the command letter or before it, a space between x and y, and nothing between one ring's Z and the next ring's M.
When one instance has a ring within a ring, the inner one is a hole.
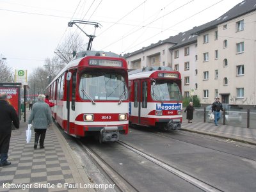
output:
M8 151L12 132L12 123L19 129L19 117L10 104L7 102L7 93L0 93L0 166L7 166Z

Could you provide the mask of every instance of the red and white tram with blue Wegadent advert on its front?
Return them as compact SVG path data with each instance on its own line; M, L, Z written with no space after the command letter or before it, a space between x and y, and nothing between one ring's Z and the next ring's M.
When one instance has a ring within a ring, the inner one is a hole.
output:
M129 72L129 124L179 129L182 123L181 77L167 67Z

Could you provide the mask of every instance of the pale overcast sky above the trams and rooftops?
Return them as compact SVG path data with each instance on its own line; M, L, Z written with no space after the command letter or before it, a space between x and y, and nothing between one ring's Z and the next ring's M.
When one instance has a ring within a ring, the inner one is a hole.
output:
M218 19L242 0L0 0L0 55L15 69L43 66L68 33L70 20L99 22L92 49L133 52ZM81 25L89 35L94 28ZM86 47L84 47L86 49Z

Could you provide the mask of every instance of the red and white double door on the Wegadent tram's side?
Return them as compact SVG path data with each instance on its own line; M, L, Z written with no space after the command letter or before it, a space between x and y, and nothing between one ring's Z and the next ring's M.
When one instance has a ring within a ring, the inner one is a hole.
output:
M134 116L132 122L134 124L147 125L147 81L136 80L134 81L134 106L132 110L132 116Z

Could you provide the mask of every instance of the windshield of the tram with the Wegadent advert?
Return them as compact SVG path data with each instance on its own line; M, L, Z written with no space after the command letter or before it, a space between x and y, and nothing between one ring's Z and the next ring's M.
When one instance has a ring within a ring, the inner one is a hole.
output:
M151 84L151 97L153 100L180 100L181 92L175 82L156 81Z

